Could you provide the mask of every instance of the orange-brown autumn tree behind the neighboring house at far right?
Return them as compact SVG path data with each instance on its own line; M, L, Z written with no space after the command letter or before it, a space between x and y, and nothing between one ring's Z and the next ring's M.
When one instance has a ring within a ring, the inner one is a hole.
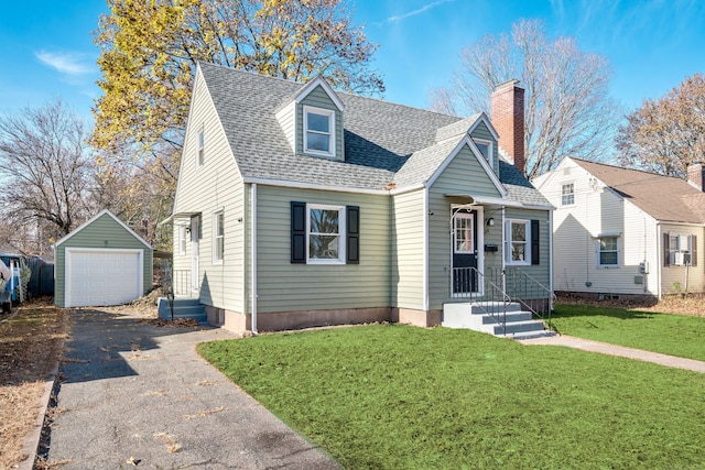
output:
M705 159L705 75L685 78L664 97L647 99L619 128L620 163L685 177Z

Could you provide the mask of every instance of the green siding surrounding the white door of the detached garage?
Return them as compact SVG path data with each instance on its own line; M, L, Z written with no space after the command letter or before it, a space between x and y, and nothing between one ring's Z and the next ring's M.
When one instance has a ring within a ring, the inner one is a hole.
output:
M144 255L142 256L142 261L144 277L142 293L144 294L152 288L152 250L149 249L140 239L135 238L133 233L126 230L120 223L116 222L108 214L104 214L82 230L74 232L66 241L55 247L55 305L62 307L65 305L66 248L143 250Z

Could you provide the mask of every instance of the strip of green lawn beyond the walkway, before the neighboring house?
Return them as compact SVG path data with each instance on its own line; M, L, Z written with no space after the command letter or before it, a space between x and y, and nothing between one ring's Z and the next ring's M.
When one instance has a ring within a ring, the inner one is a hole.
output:
M562 335L705 361L705 317L556 305L551 320Z

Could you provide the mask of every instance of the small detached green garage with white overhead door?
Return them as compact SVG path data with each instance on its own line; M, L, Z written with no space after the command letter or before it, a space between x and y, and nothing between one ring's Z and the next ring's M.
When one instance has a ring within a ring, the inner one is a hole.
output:
M152 247L109 210L54 243L54 304L120 305L152 286Z

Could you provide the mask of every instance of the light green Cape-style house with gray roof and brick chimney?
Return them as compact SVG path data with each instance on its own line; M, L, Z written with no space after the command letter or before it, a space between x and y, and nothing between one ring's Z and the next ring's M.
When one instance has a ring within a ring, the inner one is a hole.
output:
M176 295L257 331L438 325L505 266L549 286L552 208L500 156L523 157L523 89L494 100L496 127L200 64L171 217Z

